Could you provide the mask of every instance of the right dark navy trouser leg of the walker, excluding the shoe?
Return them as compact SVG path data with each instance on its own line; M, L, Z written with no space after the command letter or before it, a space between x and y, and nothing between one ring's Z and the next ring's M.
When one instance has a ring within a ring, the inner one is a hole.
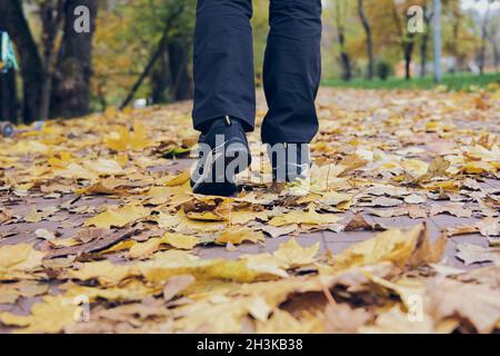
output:
M321 0L270 0L263 83L264 144L309 144L318 134Z

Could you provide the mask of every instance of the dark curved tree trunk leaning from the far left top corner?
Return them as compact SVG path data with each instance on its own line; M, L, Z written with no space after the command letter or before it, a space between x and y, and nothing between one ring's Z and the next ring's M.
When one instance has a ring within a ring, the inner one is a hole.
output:
M20 0L0 0L0 28L7 30L19 53L23 81L24 122L40 119L43 65Z

